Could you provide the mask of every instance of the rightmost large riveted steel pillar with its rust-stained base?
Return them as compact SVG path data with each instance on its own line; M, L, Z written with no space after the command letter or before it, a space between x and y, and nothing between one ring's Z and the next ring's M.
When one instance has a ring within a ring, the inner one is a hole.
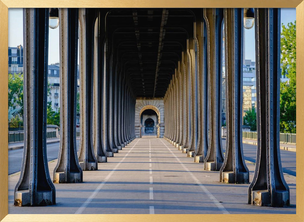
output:
M248 189L248 203L256 206L289 206L279 138L280 19L281 9L255 9L257 162Z

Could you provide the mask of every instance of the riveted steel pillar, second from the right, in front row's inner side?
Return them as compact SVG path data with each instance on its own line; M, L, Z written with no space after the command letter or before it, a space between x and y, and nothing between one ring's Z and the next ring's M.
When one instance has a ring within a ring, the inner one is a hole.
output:
M224 9L226 60L226 152L219 180L249 183L243 154L243 9Z

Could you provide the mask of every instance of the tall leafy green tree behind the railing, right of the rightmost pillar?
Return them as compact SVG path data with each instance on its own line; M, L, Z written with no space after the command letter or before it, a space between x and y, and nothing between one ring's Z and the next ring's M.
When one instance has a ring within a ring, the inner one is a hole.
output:
M280 132L296 133L296 21L282 24L281 64L289 81L280 83Z

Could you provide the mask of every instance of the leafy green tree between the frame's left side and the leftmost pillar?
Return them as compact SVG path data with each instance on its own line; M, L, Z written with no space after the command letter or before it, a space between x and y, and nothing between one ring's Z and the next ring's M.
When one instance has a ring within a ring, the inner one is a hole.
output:
M9 107L14 104L21 106L19 114L23 119L23 73L22 74L9 74ZM18 125L19 127L19 125Z

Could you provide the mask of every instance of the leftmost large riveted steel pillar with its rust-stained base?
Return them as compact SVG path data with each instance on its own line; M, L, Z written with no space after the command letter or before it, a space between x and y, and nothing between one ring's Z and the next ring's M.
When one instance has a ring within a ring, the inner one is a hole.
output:
M56 203L47 165L47 69L49 9L23 9L24 149L15 206Z

